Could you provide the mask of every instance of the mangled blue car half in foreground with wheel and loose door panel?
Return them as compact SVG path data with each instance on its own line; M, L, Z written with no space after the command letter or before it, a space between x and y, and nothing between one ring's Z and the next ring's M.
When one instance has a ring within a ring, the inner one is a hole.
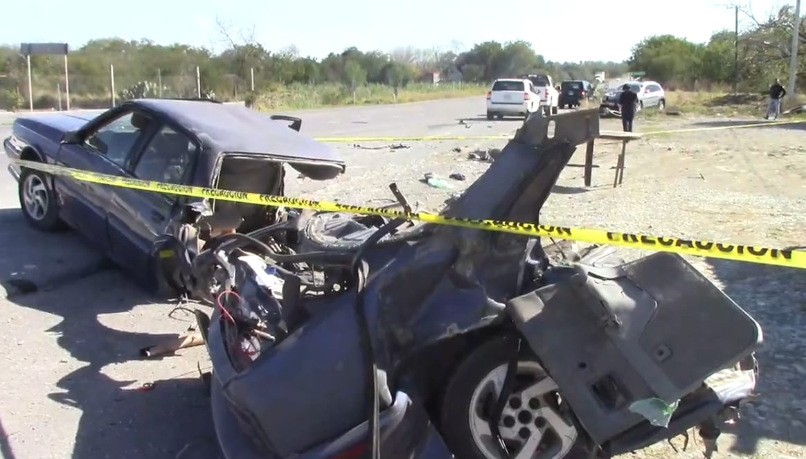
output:
M537 223L598 129L527 119L442 214ZM690 428L709 456L754 391L758 323L675 254L556 263L537 238L295 209L223 234L243 214L196 205L208 235L174 250L213 306L229 459L606 459Z

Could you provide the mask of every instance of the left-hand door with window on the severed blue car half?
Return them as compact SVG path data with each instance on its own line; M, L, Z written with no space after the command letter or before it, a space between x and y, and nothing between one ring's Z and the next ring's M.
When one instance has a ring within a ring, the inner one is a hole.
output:
M133 114L131 110L121 109L90 122L81 131L81 143L60 147L57 163L85 171L118 175L120 167L145 134L144 126L135 126ZM112 188L65 176L56 176L54 183L60 200L60 217L98 249L109 253L106 218Z

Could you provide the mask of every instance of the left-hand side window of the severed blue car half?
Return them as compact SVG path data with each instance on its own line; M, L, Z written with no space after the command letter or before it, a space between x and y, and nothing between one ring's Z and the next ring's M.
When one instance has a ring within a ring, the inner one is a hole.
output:
M120 167L126 167L135 143L145 133L152 119L135 112L124 113L107 122L84 140L85 147L106 156Z

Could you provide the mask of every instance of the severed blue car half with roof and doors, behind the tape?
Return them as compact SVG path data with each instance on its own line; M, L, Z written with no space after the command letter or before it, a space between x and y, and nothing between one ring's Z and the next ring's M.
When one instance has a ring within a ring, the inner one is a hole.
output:
M283 163L314 180L338 176L345 168L333 149L298 133L300 127L299 118L269 117L242 105L138 99L94 117L19 117L3 147L10 159L282 195ZM165 272L168 265L159 264L170 260L157 254L187 233L202 200L50 176L14 164L9 171L19 182L23 216L35 229L72 227L149 289L177 287L174 273ZM213 201L210 208L238 213L239 231L270 225L278 212L230 201Z

